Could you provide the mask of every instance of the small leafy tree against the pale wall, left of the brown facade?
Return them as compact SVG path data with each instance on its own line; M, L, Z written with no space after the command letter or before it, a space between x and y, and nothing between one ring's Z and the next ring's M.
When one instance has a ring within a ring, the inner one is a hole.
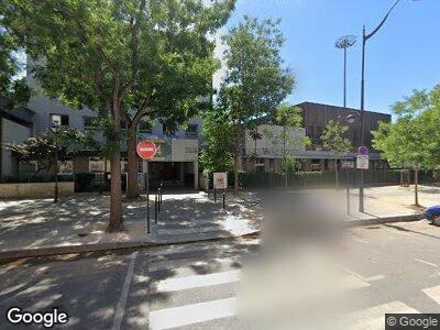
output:
M298 158L295 154L310 144L308 136L298 134L302 128L302 116L299 107L288 103L282 103L274 116L273 123L282 125L282 131L276 128L267 129L265 134L272 141L274 148L282 146L282 166L284 173L284 185L287 187L287 174L298 165Z

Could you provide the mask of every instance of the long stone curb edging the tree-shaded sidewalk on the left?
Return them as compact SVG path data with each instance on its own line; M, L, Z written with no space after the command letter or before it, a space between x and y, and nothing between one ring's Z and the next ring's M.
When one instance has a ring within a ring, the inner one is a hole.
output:
M179 245L187 243L197 242L215 242L224 241L238 238L252 238L260 234L260 230L251 231L244 234L238 235L217 235L217 237L206 237L200 239L184 239L184 240L168 240L168 241L136 241L136 242L114 242L114 243L91 243L81 245L70 245L70 246L46 246L36 248L29 250L11 250L0 252L0 262L23 257L38 257L38 256L51 256L59 254L70 254L70 253L88 253L88 252L99 252L99 251L114 251L114 250L125 250L133 248L151 248L151 246L165 246L165 245Z

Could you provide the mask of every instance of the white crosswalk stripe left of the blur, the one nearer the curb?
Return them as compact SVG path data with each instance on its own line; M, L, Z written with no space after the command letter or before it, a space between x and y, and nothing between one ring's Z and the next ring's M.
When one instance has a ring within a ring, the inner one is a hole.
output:
M185 290L196 287L207 287L219 284L234 283L239 280L240 280L240 271L176 277L157 282L156 292L169 293L169 292Z

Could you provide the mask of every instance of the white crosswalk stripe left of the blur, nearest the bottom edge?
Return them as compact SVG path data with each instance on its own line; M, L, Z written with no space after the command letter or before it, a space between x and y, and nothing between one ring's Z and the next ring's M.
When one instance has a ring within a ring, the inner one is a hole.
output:
M235 298L198 302L150 311L150 329L169 329L209 320L233 317L237 314Z

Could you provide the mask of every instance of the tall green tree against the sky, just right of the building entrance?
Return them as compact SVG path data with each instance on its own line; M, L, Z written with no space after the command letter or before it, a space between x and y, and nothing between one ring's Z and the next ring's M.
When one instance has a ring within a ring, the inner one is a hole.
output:
M294 77L283 67L280 47L284 37L279 21L244 16L223 37L228 70L219 92L219 107L229 113L234 139L234 191L242 163L245 129L252 129L256 118L272 114L292 91Z

